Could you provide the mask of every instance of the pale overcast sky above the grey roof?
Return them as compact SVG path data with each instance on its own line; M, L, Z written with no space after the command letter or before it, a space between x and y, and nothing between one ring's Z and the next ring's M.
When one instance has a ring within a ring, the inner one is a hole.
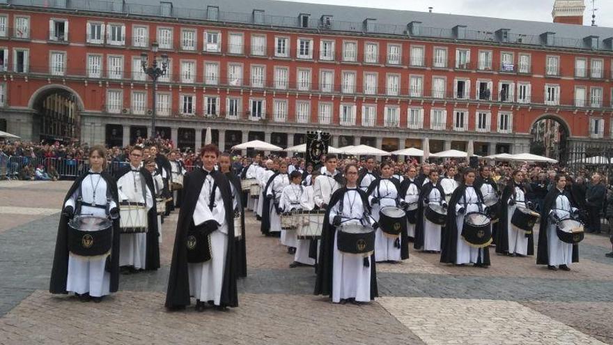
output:
M554 0L288 0L359 7L418 10L427 12L428 6L437 13L498 17L515 20L552 22ZM591 0L585 0L583 24L591 24ZM613 27L613 0L596 0L596 25Z

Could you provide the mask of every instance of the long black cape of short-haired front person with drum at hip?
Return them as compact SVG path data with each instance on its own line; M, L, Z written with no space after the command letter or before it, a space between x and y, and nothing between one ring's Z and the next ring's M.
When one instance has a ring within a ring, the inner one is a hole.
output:
M217 188L224 200L226 211L226 223L228 226L228 240L234 238L234 212L232 209L232 196L228 179L219 171L211 171ZM178 309L190 303L189 296L189 272L187 270L187 231L192 226L194 209L205 181L205 170L194 169L187 173L183 180L185 194L183 207L180 208L177 221L175 245L170 266L168 290L166 291L166 308ZM220 305L226 307L238 307L238 293L236 290L236 253L235 246L228 245L226 263L224 266L224 282L222 283L222 297Z

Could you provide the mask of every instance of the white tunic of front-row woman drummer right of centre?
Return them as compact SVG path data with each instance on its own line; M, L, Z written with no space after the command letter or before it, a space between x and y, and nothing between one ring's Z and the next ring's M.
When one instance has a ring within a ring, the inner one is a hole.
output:
M318 178L319 179L319 178ZM316 180L317 182L317 180ZM341 215L343 224L360 223L364 217L364 205L357 190L350 189L343 197L343 213L339 214L339 203L332 206L329 221L332 224L334 217ZM370 224L369 220L364 220ZM338 228L336 234L338 234ZM341 302L341 299L355 298L359 302L371 300L371 268L364 267L364 256L345 254L337 249L336 235L334 236L332 270L332 302ZM370 263L370 256L368 262Z

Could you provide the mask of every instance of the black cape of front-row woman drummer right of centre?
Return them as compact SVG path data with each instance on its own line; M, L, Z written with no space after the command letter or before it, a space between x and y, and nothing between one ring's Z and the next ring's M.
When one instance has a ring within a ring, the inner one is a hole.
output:
M334 272L334 236L336 235L336 227L330 225L330 210L332 207L345 197L347 187L341 187L330 197L330 202L323 220L323 229L321 231L320 245L320 261L317 263L317 278L315 281L315 295L323 295L332 297L332 272ZM364 212L370 215L371 208L368 206L368 196L363 190L357 188L359 196L362 197L362 205ZM315 241L313 241L315 242ZM377 286L377 269L375 263L375 254L371 255L371 300L379 297Z

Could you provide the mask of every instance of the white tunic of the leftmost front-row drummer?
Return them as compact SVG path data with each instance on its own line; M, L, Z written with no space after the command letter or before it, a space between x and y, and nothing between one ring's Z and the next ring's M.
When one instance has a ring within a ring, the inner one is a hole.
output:
M82 200L88 204L107 204L107 181L100 174L89 174L82 183ZM95 200L93 191L95 190ZM75 209L79 191L75 191L66 200L64 207L72 206ZM116 208L115 201L110 202L109 210ZM76 210L76 209L75 209ZM107 217L107 211L102 208L82 206L80 215L95 215ZM69 230L70 231L70 230ZM88 230L85 230L88 231ZM80 256L70 253L68 255L68 277L66 279L66 291L89 296L100 297L109 294L111 275L104 270L107 256Z

